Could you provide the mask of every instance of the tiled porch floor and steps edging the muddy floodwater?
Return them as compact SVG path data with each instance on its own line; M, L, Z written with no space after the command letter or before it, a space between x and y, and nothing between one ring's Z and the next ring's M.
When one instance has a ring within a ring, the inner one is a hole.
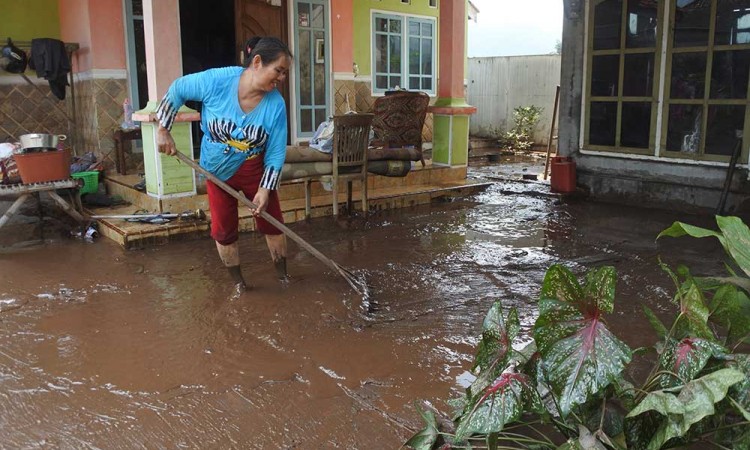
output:
M140 178L136 175L112 175L107 180L110 195L119 195L130 204L120 207L89 209L97 215L133 214L138 210L152 212L194 211L202 209L207 221L172 221L166 224L128 222L121 219L100 219L99 231L125 248L140 248L162 244L172 239L194 236L208 236L211 212L205 188L198 186L198 194L180 199L159 201L132 188ZM437 198L466 196L478 192L487 183L477 183L466 179L465 167L436 167L427 165L417 168L403 178L388 178L370 175L368 178L369 210L375 213L385 209L395 209L430 203ZM284 182L279 190L284 222L289 224L305 220L304 184L302 181ZM361 211L360 191L354 183L354 210ZM346 193L339 194L339 201L345 203ZM345 208L340 209L346 214ZM240 231L251 231L255 221L248 208L240 207ZM317 181L312 183L311 217L325 217L333 214L331 193L325 191Z

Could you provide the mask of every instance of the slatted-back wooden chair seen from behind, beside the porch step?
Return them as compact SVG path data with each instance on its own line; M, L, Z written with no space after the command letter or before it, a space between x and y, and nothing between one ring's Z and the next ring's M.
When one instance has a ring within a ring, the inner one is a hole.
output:
M362 211L367 213L367 147L370 141L372 114L347 114L333 118L333 169L332 194L333 215L339 214L338 187L347 182L346 205L352 212L352 183L359 180L362 185Z

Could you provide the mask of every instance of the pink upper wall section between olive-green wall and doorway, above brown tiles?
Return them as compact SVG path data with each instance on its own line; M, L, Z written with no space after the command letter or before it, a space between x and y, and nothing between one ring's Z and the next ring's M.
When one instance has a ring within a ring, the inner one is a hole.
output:
M81 46L73 71L125 69L121 0L59 0L60 36Z

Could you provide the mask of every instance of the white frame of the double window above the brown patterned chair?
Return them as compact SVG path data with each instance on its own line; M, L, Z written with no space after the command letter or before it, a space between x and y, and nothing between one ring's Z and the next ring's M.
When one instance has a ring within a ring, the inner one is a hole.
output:
M388 11L372 11L372 17L370 20L370 27L371 27L371 33L370 33L370 45L371 45L371 90L372 94L382 95L386 91L389 91L395 86L389 86L388 88L378 88L377 87L377 76L379 72L377 72L377 61L376 56L377 52L376 49L376 35L378 34L375 28L375 21L377 19L389 19L389 20L400 20L401 21L401 84L399 85L402 89L409 89L409 77L414 76L420 76L420 78L425 77L424 75L420 74L411 74L409 72L409 25L410 21L419 21L420 23L429 22L432 25L432 74L431 74L431 80L432 80L432 89L421 89L421 83L420 83L420 89L416 89L417 91L425 92L430 96L435 96L437 94L437 41L438 41L438 30L437 30L437 19L435 17L431 16L416 16L416 15L409 15L409 14L395 14ZM421 54L421 53L420 53ZM393 75L391 73L383 74L380 73L380 75Z

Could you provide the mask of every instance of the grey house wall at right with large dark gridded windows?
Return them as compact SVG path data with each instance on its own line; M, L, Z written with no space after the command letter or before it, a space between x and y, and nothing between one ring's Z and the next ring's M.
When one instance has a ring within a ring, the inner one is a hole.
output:
M559 150L602 199L716 208L750 194L750 2L564 0Z

